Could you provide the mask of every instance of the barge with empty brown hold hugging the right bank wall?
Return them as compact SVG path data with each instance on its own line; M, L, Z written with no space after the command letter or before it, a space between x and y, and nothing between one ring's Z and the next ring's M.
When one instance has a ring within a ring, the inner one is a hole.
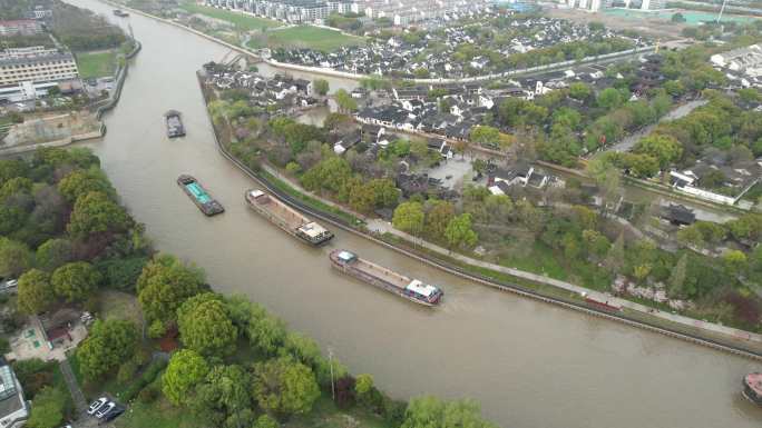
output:
M246 203L275 226L313 246L320 246L333 238L333 233L296 210L262 190L247 190Z

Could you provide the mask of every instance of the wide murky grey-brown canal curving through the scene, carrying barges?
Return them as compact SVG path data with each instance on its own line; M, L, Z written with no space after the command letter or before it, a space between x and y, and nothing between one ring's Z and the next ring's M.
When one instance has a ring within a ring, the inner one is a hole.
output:
M70 2L118 20L108 4ZM342 231L323 249L281 232L245 207L254 183L214 145L195 70L227 50L141 16L119 22L143 51L105 117L107 136L88 146L156 247L203 267L216 290L262 302L395 398L473 398L504 427L760 426L762 410L740 394L759 364L498 292ZM187 137L165 137L169 109L184 113ZM180 173L227 211L202 216L175 185ZM441 285L443 306L419 308L339 275L328 260L338 247Z

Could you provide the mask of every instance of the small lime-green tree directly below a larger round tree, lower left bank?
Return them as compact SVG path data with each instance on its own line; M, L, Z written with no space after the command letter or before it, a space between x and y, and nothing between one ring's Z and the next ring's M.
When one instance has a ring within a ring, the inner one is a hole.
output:
M208 372L204 357L193 349L180 349L172 355L162 376L162 390L173 404L187 406L195 399L194 391Z

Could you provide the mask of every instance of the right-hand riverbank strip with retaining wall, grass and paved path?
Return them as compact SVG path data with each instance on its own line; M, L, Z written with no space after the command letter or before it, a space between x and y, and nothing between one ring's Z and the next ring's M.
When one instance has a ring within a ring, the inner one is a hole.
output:
M208 103L209 94L204 88L201 76L198 76L198 84L205 102ZM271 173L263 173L262 169L264 168L255 171L235 158L228 151L224 141L221 141L221 132L208 115L208 110L207 117L213 125L216 146L227 160L233 162L248 177L292 208L311 215L322 221L326 221L345 231L449 273L499 290L511 291L565 308L576 309L588 315L617 320L629 326L639 327L670 337L681 338L694 344L762 360L762 335L704 322L674 313L654 311L652 308L643 305L615 298L565 281L479 261L463 255L456 255L434 245L414 240L412 237L392 230L391 227L379 226L381 225L379 221L373 221L372 223L368 222L368 226L359 226L358 223L349 222L346 221L345 216L324 211L324 207L331 207L332 211L335 210L335 203L323 200L315 195L294 197L294 195L300 195L302 192L293 187L289 191L284 191L283 186L287 185L287 182L279 180L281 182L275 185L272 181L273 176ZM320 205L311 203L313 200L319 201ZM344 211L346 210L344 209ZM354 212L344 212L344 215L364 219L363 216ZM624 310L622 312L604 310L597 305L587 302L583 296L593 297L600 302L607 301L612 305L617 303L622 306ZM637 317L629 316L627 311L637 312Z

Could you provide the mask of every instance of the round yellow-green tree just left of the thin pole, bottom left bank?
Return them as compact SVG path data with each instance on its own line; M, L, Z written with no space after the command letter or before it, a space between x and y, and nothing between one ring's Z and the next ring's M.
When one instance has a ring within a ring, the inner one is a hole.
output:
M287 357L256 364L253 384L260 407L282 415L306 414L320 397L312 370Z

